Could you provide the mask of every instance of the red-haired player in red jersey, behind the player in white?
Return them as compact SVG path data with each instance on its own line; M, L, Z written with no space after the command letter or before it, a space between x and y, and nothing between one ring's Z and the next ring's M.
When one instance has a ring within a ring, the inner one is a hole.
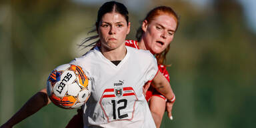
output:
M166 66L163 65L163 61L165 61L165 56L169 51L169 44L173 40L178 25L177 14L171 7L156 7L149 11L141 27L138 29L136 35L138 42L133 40L126 41L126 45L137 49L149 50L155 54L159 71L163 73L168 81L169 73L166 70ZM152 86L147 91L146 99L149 101L149 108L155 124L157 127L160 127L163 114L165 113L166 99ZM171 119L173 118L171 113L168 113L168 116Z

